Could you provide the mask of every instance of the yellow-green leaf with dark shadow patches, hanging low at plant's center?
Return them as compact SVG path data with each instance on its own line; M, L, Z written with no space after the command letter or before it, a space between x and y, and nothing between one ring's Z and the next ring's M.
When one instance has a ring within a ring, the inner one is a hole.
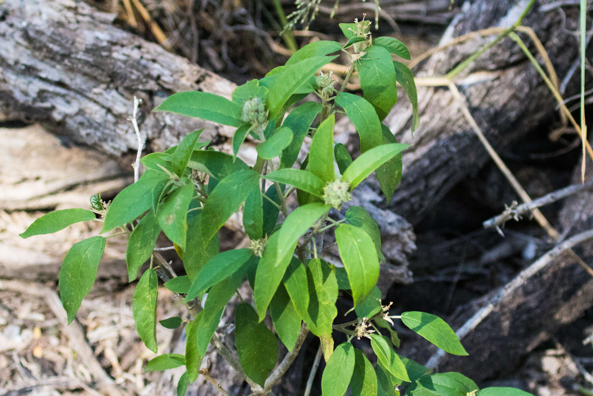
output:
M321 259L313 259L307 267L309 306L308 327L317 337L331 338L331 324L337 316L336 272Z

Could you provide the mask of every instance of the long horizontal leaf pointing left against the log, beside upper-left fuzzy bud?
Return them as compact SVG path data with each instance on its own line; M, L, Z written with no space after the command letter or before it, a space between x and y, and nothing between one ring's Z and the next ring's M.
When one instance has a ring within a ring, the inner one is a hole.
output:
M173 112L184 116L197 117L222 125L241 125L241 107L230 100L200 91L174 93L154 112Z

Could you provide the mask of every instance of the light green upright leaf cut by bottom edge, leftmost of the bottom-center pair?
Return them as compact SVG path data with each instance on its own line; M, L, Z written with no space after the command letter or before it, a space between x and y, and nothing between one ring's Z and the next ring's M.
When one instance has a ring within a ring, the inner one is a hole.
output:
M321 392L323 396L343 396L354 371L356 357L350 343L336 347L323 370Z

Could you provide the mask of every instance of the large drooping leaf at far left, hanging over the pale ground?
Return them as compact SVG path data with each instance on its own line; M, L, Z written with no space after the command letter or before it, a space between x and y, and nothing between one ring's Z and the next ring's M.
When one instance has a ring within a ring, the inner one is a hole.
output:
M68 314L68 324L71 324L82 299L93 287L105 242L102 236L81 240L70 248L64 258L58 284L62 305Z

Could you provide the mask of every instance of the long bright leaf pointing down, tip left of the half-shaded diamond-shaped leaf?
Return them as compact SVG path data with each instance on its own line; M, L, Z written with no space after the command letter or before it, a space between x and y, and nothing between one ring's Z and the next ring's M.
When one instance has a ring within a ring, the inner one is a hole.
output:
M253 296L260 321L266 317L266 309L276 293L280 281L282 281L286 267L291 262L292 252L297 246L296 241L291 246L283 246L282 251L285 253L280 256L278 240L279 232L275 232L270 236L262 258L257 265Z

